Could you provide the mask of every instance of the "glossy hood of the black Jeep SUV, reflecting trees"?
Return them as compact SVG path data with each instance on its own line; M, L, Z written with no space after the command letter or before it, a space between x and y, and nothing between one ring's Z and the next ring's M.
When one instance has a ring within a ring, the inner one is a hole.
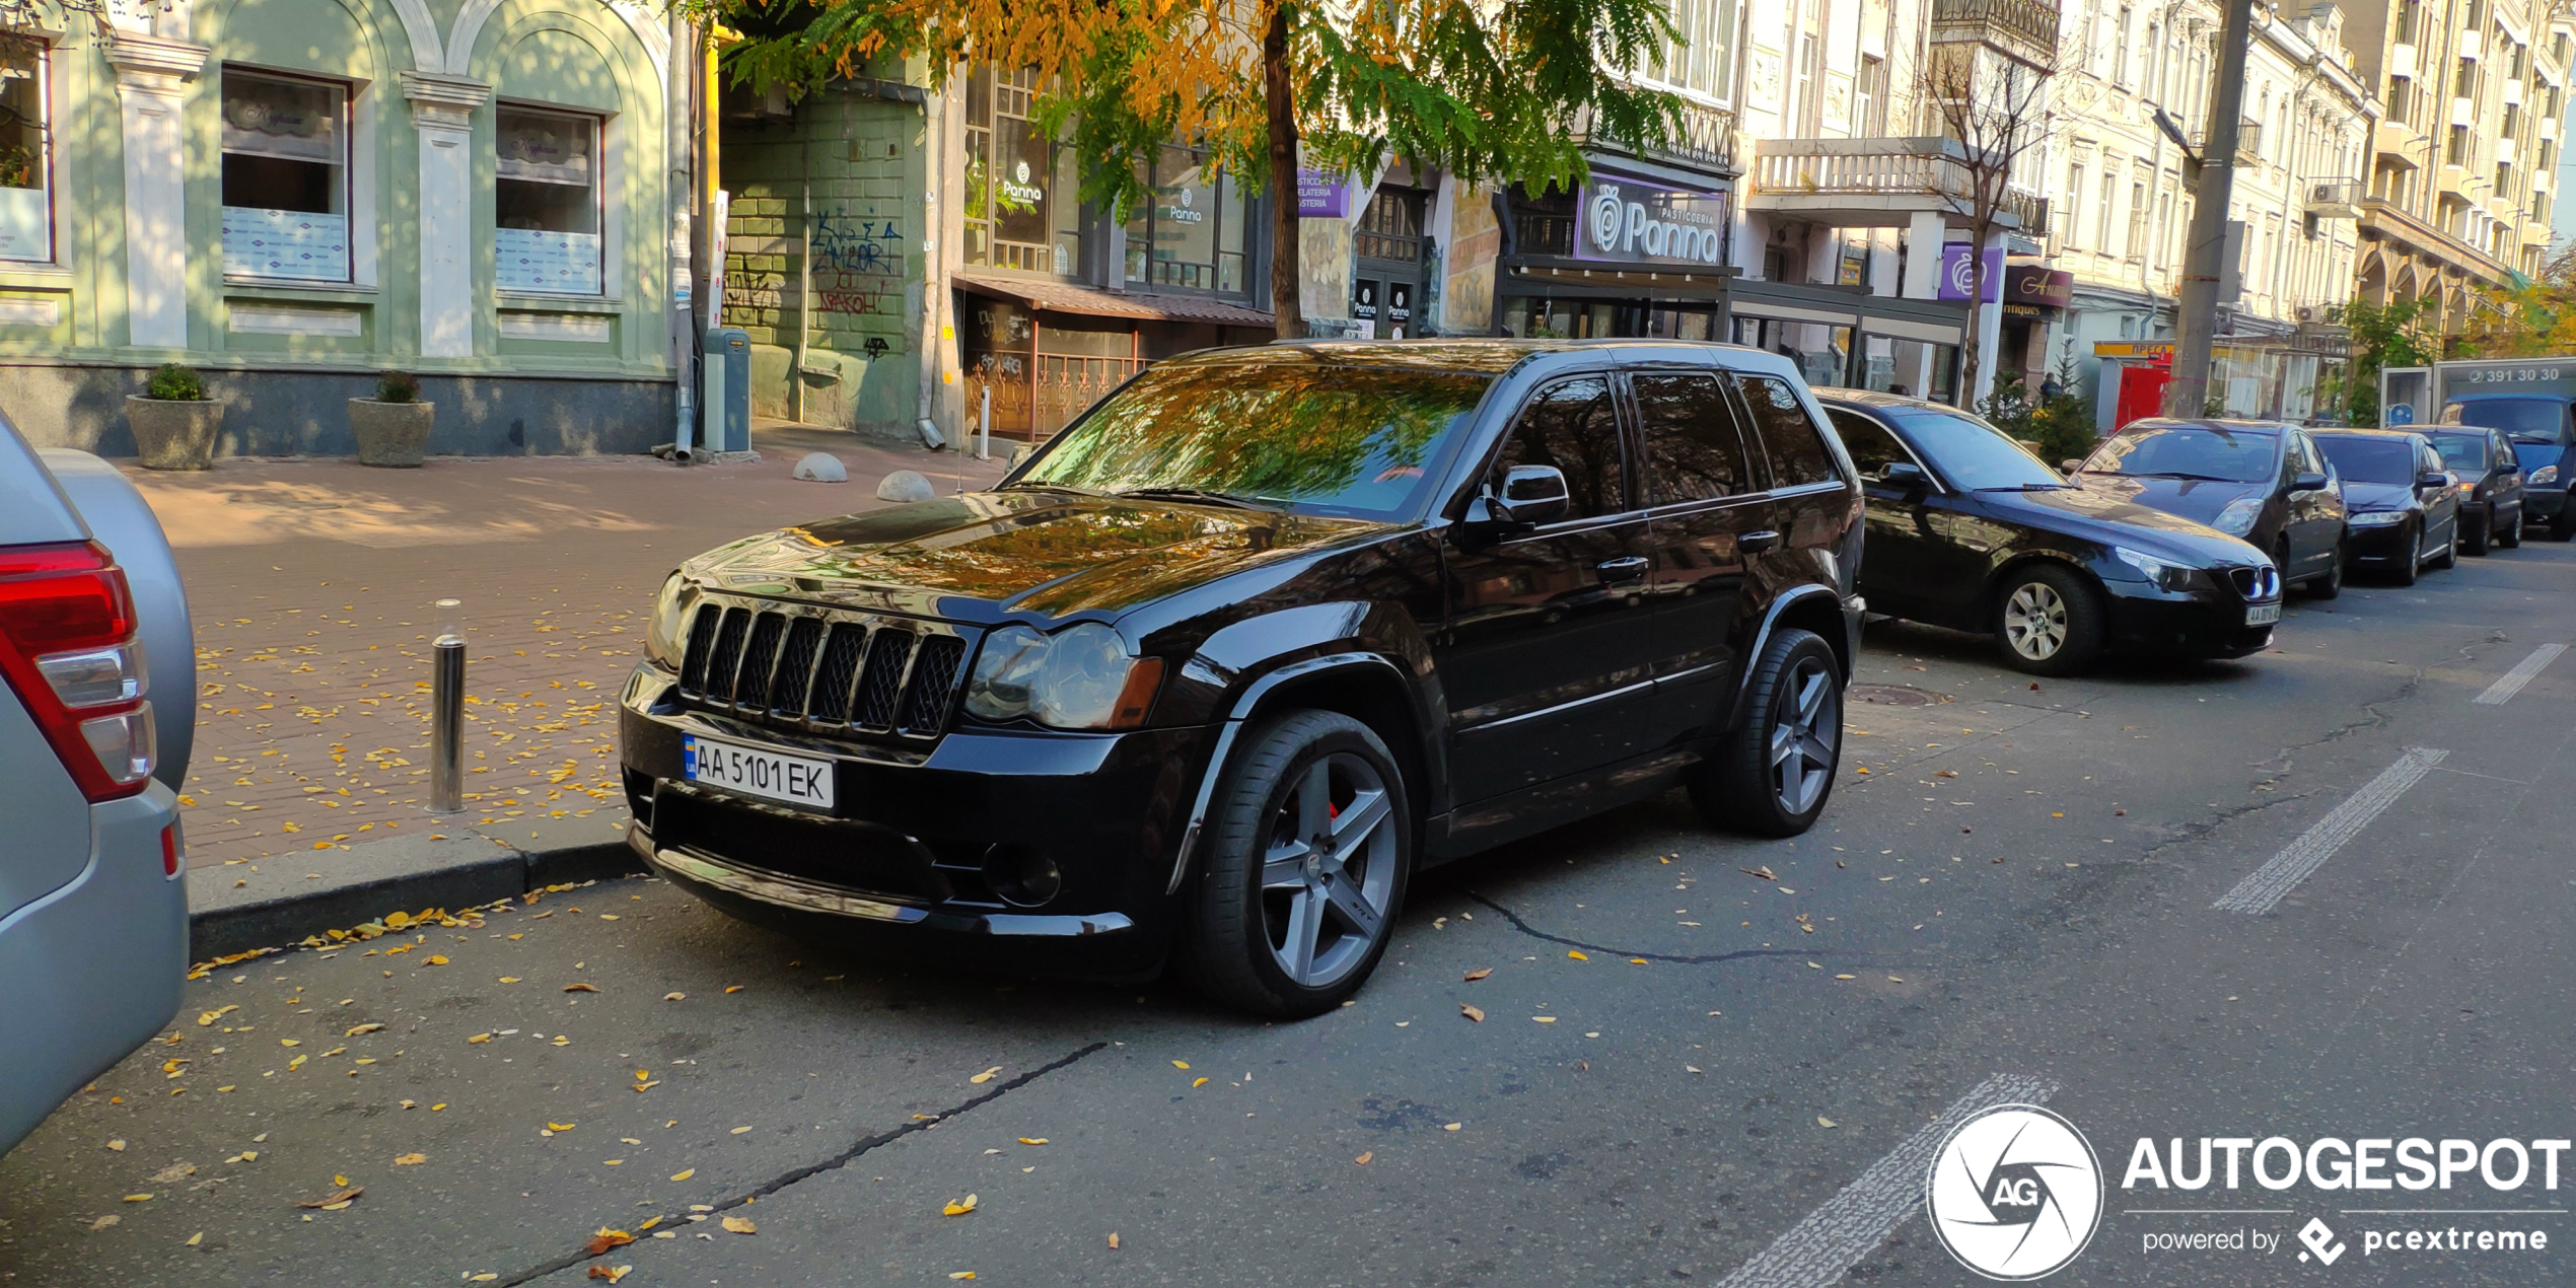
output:
M1066 492L969 492L799 523L690 559L708 590L948 621L1118 613L1391 523Z

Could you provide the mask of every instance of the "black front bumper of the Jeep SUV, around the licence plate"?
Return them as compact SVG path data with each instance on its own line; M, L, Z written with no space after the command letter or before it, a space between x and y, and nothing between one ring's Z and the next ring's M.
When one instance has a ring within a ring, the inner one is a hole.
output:
M1216 726L1131 734L953 729L927 752L783 734L683 711L639 667L621 701L629 845L744 920L907 958L1087 976L1151 971L1170 948L1188 804ZM835 814L683 778L680 739L832 762ZM997 855L1043 855L1061 891L1012 907Z

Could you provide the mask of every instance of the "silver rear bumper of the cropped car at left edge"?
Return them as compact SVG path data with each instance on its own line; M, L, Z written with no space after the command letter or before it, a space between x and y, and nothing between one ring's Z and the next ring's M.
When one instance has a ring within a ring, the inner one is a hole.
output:
M0 1151L178 1015L188 976L188 881L162 876L178 796L90 806L90 863L0 920Z

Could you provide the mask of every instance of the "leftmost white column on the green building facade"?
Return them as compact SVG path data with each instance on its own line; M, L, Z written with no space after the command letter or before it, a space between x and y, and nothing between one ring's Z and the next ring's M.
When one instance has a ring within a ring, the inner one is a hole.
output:
M188 170L180 108L206 46L118 31L108 39L126 155L126 343L188 348Z

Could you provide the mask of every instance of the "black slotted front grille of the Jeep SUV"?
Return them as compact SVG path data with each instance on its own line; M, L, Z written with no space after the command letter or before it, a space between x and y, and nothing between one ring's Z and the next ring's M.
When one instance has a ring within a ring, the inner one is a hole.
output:
M966 636L933 621L708 598L688 629L680 698L819 734L935 739L966 652Z

